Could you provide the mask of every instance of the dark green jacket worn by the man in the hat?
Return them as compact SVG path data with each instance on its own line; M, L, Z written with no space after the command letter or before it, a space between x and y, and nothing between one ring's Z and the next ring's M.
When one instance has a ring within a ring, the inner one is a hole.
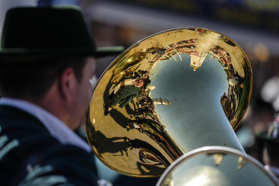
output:
M97 185L93 156L63 145L27 112L0 105L1 185Z

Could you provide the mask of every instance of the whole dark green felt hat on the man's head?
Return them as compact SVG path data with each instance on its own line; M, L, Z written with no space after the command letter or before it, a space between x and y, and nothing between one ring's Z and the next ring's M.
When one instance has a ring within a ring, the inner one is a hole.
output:
M120 54L124 47L96 47L78 6L22 7L8 10L0 63Z

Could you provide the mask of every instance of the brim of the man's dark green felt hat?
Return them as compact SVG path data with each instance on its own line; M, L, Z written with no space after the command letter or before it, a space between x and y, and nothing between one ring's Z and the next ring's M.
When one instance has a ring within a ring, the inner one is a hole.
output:
M124 51L123 46L96 47L96 50L69 48L69 49L6 49L0 51L0 64L5 62L34 62L36 60L51 60L73 57L94 56L95 58L119 55Z

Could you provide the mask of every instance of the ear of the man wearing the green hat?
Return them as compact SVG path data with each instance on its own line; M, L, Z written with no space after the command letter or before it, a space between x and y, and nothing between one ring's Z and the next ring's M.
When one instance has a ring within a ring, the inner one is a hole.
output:
M77 85L73 68L65 69L59 78L59 92L62 98L70 100Z

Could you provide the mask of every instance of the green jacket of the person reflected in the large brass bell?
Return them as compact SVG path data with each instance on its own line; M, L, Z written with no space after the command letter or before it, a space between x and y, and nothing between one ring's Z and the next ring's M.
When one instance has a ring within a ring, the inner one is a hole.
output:
M116 94L112 97L110 103L111 105L116 105L117 103L122 102L119 107L123 108L127 105L132 99L137 97L140 93L140 87L135 85L128 85L123 88L120 88Z

